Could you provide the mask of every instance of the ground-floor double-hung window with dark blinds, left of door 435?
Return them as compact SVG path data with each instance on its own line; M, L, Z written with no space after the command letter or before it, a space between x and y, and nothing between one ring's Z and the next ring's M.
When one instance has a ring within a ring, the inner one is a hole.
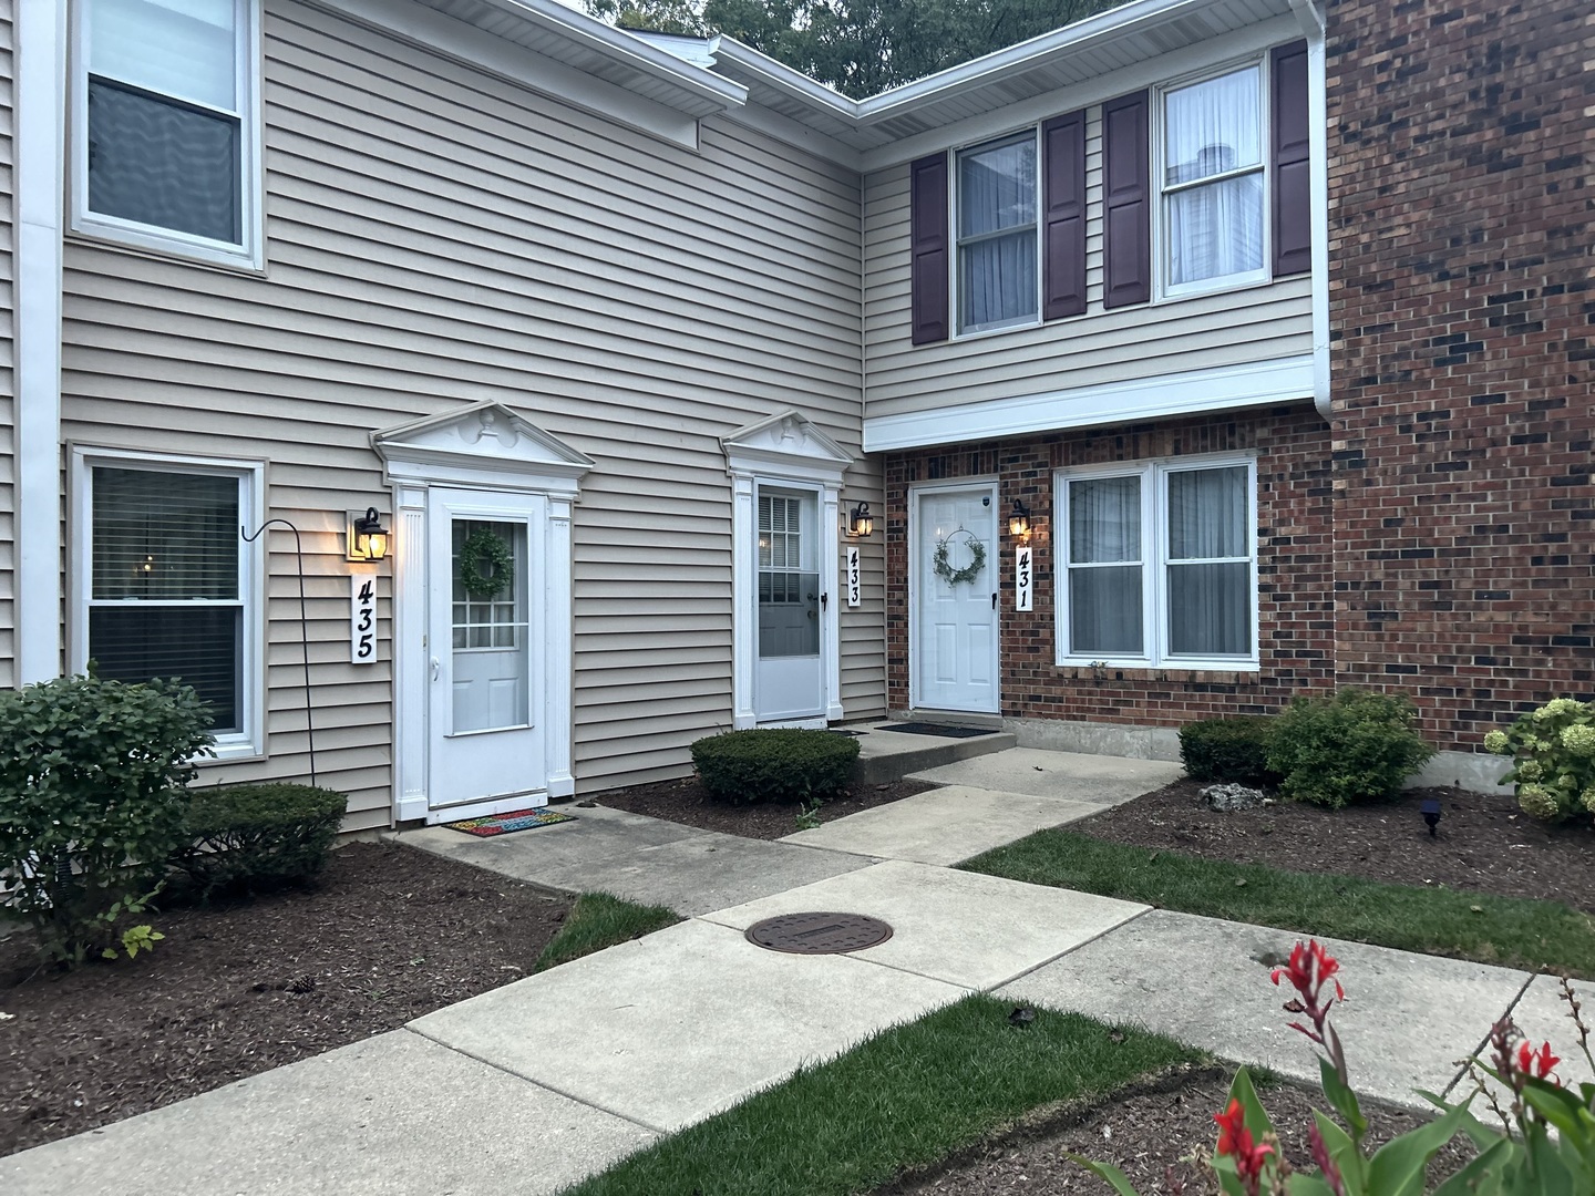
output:
M226 754L260 749L254 526L258 466L80 450L73 668L180 679L211 706Z

